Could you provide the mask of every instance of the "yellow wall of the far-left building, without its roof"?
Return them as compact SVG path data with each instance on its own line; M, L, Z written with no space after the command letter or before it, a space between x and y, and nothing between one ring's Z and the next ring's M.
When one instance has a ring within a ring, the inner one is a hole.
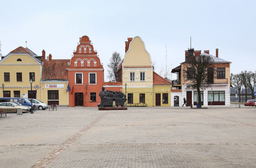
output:
M20 58L22 61L17 61ZM29 55L9 55L4 61L0 64L0 79L2 83L5 85L5 91L11 91L11 97L14 97L14 91L20 91L20 97L23 97L23 94L28 94L28 90L30 90L30 77L29 73L35 73L35 81L32 83L32 90L36 90L34 88L35 85L39 85L41 80L41 69L42 64L35 61ZM10 73L10 82L4 82L4 73ZM22 73L23 82L17 82L16 73ZM2 85L1 83L1 85ZM41 91L40 88L37 90L37 98L40 99ZM3 92L1 92L0 96L3 96Z

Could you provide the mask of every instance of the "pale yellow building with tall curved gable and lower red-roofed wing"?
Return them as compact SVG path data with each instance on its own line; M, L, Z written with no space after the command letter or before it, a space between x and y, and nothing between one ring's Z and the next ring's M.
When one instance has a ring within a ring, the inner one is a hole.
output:
M142 39L136 36L125 43L126 53L117 70L117 82L123 82L127 106L170 106L171 83L153 71Z

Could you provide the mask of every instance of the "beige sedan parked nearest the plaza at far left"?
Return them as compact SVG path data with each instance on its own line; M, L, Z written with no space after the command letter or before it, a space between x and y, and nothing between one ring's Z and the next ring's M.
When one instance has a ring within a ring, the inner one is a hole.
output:
M17 109L22 109L22 113L29 112L29 108L25 106L19 106L18 104L14 102L2 102L0 103L0 108L3 110L3 112L7 113L17 113Z

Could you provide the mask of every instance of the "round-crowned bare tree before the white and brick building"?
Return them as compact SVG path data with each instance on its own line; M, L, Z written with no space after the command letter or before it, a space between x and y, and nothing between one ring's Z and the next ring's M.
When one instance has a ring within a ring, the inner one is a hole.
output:
M197 90L198 107L201 108L201 91L208 88L216 76L214 60L208 55L190 56L183 62L183 77L187 85Z

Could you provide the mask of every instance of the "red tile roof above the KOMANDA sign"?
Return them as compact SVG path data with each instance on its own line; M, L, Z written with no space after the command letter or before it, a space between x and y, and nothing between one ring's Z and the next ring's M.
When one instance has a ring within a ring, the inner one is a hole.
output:
M42 79L68 79L68 61L44 61Z

